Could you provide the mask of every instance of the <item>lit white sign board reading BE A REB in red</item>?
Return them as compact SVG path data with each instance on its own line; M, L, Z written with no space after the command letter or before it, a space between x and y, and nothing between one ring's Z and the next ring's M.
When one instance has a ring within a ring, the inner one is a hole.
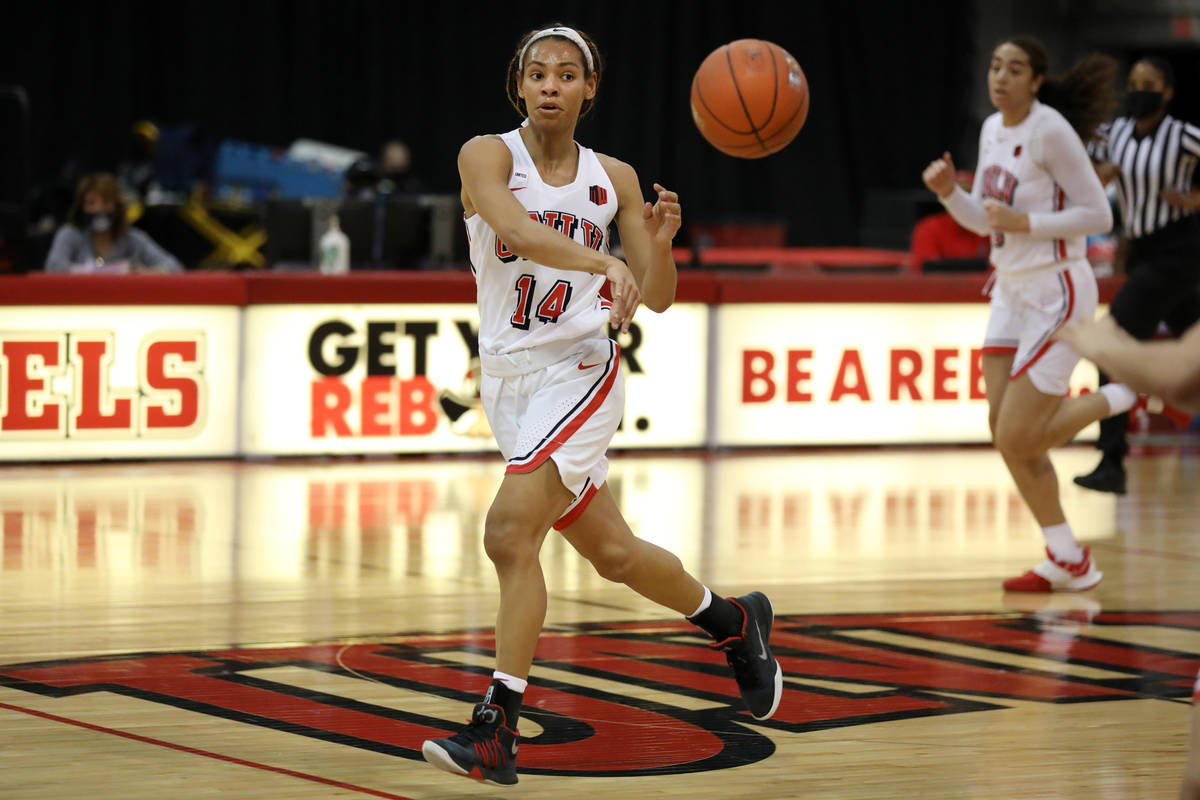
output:
M730 303L716 315L716 445L990 440L985 303ZM1081 362L1072 391L1096 385Z

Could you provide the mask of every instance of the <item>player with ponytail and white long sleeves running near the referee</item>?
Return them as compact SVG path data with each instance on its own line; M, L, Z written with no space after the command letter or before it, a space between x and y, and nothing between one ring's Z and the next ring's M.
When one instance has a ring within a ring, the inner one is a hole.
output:
M1116 65L1090 56L1057 79L1046 76L1046 66L1036 40L1001 43L988 70L996 113L979 134L971 194L955 185L949 154L923 174L960 224L991 234L996 283L983 350L988 422L1042 527L1048 557L1006 581L1009 591L1079 591L1099 583L1090 548L1080 547L1063 516L1048 452L1136 401L1123 384L1064 397L1079 355L1050 336L1096 312L1085 239L1111 229L1112 211L1081 137L1091 138L1114 104Z

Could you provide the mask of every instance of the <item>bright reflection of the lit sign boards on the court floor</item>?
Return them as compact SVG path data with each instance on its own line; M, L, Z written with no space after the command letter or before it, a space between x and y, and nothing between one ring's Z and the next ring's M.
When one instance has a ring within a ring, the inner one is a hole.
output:
M5 469L0 575L491 587L502 477L494 458ZM610 486L637 535L716 583L971 577L1039 552L986 450L618 456ZM1063 504L1080 539L1115 534L1115 498L1068 485ZM559 536L542 558L554 590L605 585Z

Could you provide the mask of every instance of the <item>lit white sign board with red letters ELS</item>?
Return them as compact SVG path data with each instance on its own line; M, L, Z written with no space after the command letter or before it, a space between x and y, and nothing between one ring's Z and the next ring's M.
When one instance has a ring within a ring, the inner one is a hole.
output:
M0 461L235 455L238 314L5 308Z

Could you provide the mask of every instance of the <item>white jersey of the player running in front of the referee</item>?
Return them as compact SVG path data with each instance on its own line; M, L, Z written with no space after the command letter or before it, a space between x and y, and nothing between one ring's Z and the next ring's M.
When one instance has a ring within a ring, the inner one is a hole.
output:
M1070 124L1054 108L1033 102L1020 125L1004 127L1000 112L983 124L979 137L979 161L972 194L992 198L1021 213L1061 211L1070 204L1055 182L1042 150L1042 136L1051 126L1070 131ZM1070 136L1078 142L1074 131ZM1084 144L1079 143L1080 149ZM982 187L982 188L980 188ZM994 233L990 260L1000 272L1016 272L1056 261L1084 258L1086 236L1034 239L1021 233Z

